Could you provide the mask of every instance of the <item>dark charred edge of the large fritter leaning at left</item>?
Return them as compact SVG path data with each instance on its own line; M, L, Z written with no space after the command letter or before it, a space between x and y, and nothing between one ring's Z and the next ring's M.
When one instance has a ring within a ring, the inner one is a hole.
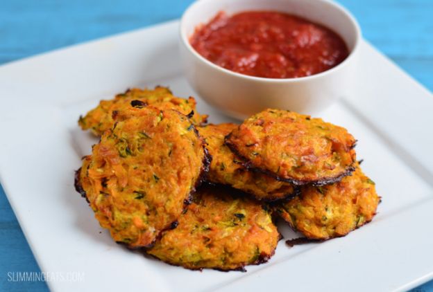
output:
M179 111L177 111L177 112L180 115L185 116L183 113L180 113ZM188 120L189 120L189 116L192 114L194 114L194 111L192 111L192 113L189 113L188 115L186 115ZM115 125L114 125L114 127L115 127ZM193 124L192 124L192 129L194 129L194 133L199 138L199 140L201 140L203 152L205 155L203 156L201 173L199 174L198 179L197 179L194 187L190 190L189 194L187 194L187 198L184 200L183 212L185 212L185 210L187 209L189 204L192 202L192 195L194 194L194 192L196 192L197 188L206 180L207 172L209 172L209 166L210 166L210 163L212 161L212 156L209 154L209 151L207 151L207 148L205 147L205 145L206 145L205 139L202 136L200 136L200 134L198 134L198 131ZM83 158L84 157L82 157L81 159L83 159ZM87 194L86 194L85 190L83 189L83 185L81 184L81 181L80 181L80 170L81 170L81 167L75 171L74 187L75 187L75 190L81 195L81 197L85 198L87 203L90 204L89 199L87 199ZM155 241L160 239L162 232L164 232L165 230L170 230L170 229L176 228L177 226L178 226L178 220L177 219L172 221L171 223L167 224L167 227L160 230L157 237L155 237L155 240L153 240L152 243L148 244L147 246L132 247L132 246L128 246L128 244L126 244L122 241L116 241L116 242L117 242L117 244L124 244L129 249L133 249L133 250L134 249L140 249L140 248L150 248L153 246L153 244L155 244Z

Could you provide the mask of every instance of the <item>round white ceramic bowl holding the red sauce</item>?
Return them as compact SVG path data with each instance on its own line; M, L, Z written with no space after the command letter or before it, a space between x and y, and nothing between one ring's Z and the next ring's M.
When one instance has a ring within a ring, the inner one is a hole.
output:
M246 10L287 12L323 24L346 42L350 55L319 74L287 79L253 77L213 64L198 54L189 37L217 12ZM180 53L189 84L209 104L234 118L246 118L268 107L317 113L352 89L361 32L350 12L328 0L199 0L180 21Z

